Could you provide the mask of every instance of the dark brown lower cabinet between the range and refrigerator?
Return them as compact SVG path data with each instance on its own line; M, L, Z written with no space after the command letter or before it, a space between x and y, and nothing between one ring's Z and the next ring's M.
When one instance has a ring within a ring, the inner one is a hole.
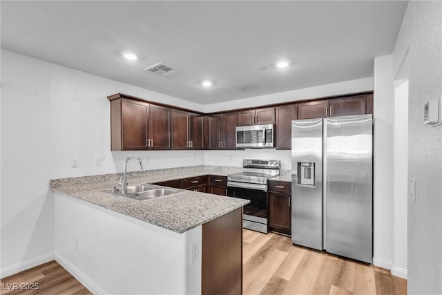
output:
M291 235L291 182L269 181L269 226Z

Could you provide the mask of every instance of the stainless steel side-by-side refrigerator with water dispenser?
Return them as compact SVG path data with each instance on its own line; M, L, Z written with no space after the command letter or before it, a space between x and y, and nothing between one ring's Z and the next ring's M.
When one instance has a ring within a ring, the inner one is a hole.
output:
M291 122L291 240L372 263L372 115Z

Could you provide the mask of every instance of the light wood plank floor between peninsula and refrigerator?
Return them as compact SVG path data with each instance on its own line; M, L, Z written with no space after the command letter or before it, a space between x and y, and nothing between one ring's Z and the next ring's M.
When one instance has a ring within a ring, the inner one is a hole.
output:
M244 229L244 294L407 294L387 269L297 247L291 238Z

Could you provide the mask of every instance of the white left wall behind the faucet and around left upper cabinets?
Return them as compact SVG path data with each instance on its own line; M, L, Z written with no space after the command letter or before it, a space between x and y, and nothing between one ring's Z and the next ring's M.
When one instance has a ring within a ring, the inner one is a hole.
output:
M52 260L52 178L120 172L107 95L126 93L202 111L182 99L1 50L1 277ZM204 151L143 151L145 169L204 164ZM79 158L79 168L70 159ZM95 166L102 157L102 166ZM129 170L139 170L137 162Z

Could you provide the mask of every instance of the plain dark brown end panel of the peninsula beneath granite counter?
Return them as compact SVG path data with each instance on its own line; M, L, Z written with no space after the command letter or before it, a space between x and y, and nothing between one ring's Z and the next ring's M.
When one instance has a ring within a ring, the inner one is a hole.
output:
M242 294L242 207L202 225L201 294Z

